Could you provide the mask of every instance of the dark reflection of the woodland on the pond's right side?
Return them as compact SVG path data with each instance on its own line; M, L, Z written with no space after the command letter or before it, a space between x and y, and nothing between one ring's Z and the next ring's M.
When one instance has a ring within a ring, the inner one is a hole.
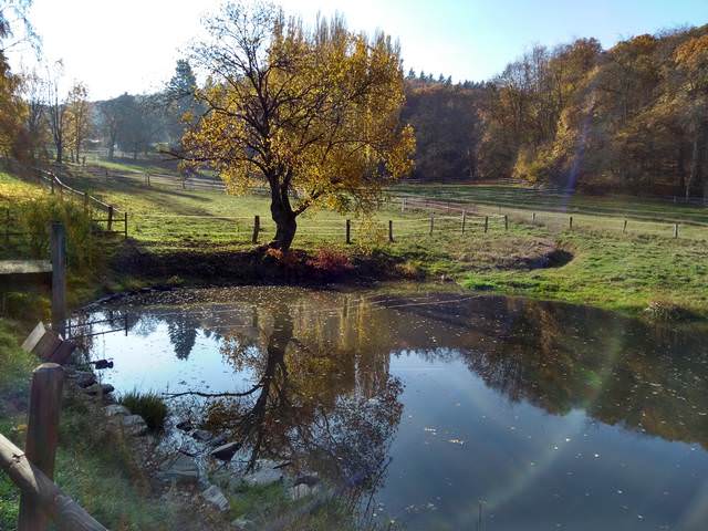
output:
M583 408L605 424L708 448L704 335L587 308L504 306L496 341L461 350L489 386L550 413Z

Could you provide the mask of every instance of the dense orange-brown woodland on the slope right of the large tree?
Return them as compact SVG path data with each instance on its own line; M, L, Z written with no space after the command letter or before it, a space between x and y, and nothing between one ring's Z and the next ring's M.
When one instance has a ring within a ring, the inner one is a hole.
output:
M415 177L708 195L708 25L535 46L485 84L408 74Z

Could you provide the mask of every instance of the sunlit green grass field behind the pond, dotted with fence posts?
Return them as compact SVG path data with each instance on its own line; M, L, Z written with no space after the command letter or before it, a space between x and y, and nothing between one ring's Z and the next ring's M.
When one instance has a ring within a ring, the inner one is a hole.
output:
M266 196L183 190L177 180L174 186L148 188L140 176L131 173L111 174L107 179L76 173L69 180L127 210L129 236L145 252L199 256L252 249L256 215L261 219L260 242L274 232ZM456 200L450 199L452 210L448 214L442 208L436 214L431 236L427 211L402 212L399 204L384 205L372 220L353 220L352 246L344 241L342 215L313 211L300 219L294 247L309 252L327 248L350 254L384 254L410 275L450 278L476 290L586 303L635 315L659 302L708 316L708 226L680 225L675 239L668 222L690 217L693 223L702 223L708 209L575 196L566 198L574 212L604 214L573 214L570 230L568 214L559 212L562 205L556 199L539 198L528 189L420 185L396 191L438 199L454 195L466 205L475 197L478 202L470 207L462 235ZM513 208L500 210L498 205L483 202L499 198ZM535 223L531 210L537 212ZM509 230L504 230L503 215L509 216ZM488 232L483 231L483 216L490 216ZM394 243L387 241L388 220L393 221ZM549 248L565 250L573 259L562 267L534 269L534 260Z

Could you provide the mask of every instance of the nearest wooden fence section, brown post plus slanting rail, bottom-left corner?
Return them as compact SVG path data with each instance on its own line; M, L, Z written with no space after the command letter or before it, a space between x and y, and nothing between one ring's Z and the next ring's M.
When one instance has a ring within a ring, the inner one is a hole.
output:
M63 385L61 365L44 363L37 367L24 451L0 434L0 468L21 491L18 531L44 531L50 519L62 530L106 529L52 480Z

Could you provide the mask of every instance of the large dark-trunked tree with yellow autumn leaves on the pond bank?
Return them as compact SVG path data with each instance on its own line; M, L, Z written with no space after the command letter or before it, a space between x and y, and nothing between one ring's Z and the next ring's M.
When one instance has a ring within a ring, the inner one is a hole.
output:
M344 22L306 29L272 4L227 3L194 49L209 75L197 91L206 110L179 156L219 171L230 191L266 184L288 250L296 219L315 205L368 210L382 186L412 167L415 140L399 114L398 46Z

